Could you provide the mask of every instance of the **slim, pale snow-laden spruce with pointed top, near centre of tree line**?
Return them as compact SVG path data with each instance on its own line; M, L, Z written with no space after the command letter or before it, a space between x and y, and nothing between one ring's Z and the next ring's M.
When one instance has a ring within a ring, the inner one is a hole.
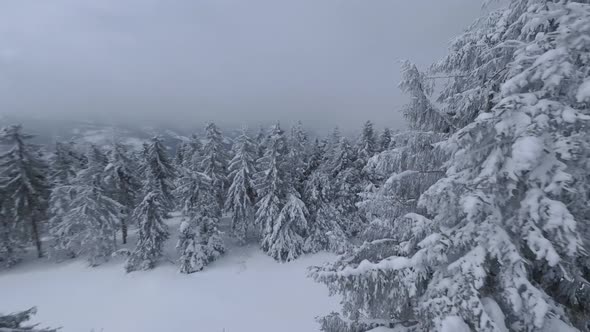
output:
M256 145L243 129L235 145L235 155L229 164L231 185L227 193L225 209L232 212L232 234L242 243L246 241L248 229L253 228L254 223L255 148Z

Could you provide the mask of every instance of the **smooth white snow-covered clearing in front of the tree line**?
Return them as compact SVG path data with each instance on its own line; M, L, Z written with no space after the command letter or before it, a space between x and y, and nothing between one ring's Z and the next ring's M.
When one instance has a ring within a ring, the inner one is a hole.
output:
M178 218L166 255L175 257ZM133 242L133 239L131 239ZM36 322L63 332L307 332L338 309L307 267L334 259L306 256L279 264L256 246L229 252L202 272L182 275L171 262L126 274L122 261L31 262L0 271L0 313L38 307Z

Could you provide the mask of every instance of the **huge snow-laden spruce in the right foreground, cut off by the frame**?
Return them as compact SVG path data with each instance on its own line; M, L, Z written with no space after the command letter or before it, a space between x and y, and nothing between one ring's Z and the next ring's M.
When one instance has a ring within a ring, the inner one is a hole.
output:
M501 69L485 75L491 85L477 86L493 98L475 115L474 99L461 90L452 99L473 121L448 117L458 131L442 145L451 154L446 176L419 201L432 218L408 215L399 234L411 236L389 252L315 275L344 294L350 315L415 320L421 331L450 321L473 331L585 330L587 244L579 230L588 217L578 207L587 177L574 176L587 167L580 158L588 155L590 5L512 1L480 22L466 33L487 29L484 54L469 47L472 72L488 63ZM451 49L453 74L466 68L466 48ZM371 288L354 291L360 280ZM386 292L387 300L369 296Z

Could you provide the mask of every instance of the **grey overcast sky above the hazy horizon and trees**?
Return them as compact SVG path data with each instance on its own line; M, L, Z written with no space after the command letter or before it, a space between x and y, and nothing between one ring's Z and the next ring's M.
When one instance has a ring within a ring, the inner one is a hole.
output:
M476 0L0 0L0 112L102 121L402 127Z

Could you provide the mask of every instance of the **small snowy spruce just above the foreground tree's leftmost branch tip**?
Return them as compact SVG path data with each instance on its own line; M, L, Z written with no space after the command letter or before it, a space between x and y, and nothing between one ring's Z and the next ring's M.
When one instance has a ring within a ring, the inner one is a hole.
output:
M309 211L305 252L327 250L342 254L350 248L341 226L346 223L330 200L334 197L333 190L330 177L321 170L312 173L305 183L304 201Z

